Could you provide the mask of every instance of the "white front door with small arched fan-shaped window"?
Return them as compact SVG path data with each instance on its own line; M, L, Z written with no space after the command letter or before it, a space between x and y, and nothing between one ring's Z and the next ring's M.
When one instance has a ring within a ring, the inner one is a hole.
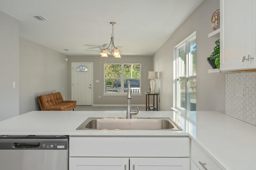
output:
M92 105L92 63L72 63L72 100Z

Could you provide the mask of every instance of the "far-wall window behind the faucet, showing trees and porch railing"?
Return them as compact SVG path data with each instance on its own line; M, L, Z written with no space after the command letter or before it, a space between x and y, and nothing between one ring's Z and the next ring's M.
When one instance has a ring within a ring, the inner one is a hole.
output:
M104 94L126 94L128 80L132 93L140 94L140 70L140 64L104 64Z

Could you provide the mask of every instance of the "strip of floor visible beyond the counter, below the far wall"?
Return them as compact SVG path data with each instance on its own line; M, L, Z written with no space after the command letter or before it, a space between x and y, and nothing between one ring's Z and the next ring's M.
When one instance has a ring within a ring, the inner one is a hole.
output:
M138 107L139 111L146 111L146 107ZM136 111L137 107L131 107ZM126 111L126 106L76 106L74 111Z

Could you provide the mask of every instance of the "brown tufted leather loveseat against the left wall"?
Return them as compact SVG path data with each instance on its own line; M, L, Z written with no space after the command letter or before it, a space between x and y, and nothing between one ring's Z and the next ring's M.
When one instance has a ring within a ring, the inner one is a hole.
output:
M76 107L76 101L64 101L60 92L36 97L41 111L70 111Z

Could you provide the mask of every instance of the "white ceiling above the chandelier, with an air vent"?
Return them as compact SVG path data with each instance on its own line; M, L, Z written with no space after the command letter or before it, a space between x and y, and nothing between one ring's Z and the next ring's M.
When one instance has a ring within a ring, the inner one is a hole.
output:
M67 55L99 55L87 45L109 44L110 22L121 55L153 55L202 1L0 0L0 11L19 20L20 37Z

